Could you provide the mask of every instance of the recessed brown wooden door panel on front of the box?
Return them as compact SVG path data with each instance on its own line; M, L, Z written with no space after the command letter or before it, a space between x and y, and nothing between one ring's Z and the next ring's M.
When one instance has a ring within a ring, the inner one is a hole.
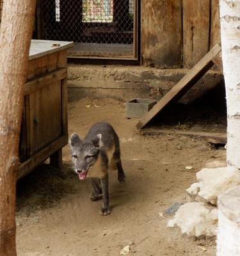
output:
M30 155L61 136L61 81L29 94Z

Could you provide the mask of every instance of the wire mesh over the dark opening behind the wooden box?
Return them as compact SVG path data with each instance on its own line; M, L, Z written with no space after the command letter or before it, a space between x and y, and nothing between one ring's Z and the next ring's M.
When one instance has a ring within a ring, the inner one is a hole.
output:
M134 1L41 0L42 39L132 44Z

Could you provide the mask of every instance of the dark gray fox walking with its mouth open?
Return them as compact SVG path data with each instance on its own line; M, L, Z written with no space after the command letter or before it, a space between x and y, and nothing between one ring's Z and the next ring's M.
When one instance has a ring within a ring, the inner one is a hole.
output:
M113 161L118 169L118 181L125 181L125 174L120 159L118 135L108 123L94 124L84 140L77 133L70 136L72 162L80 180L90 178L93 186L90 199L95 201L102 194L101 215L111 213L109 208L108 168Z

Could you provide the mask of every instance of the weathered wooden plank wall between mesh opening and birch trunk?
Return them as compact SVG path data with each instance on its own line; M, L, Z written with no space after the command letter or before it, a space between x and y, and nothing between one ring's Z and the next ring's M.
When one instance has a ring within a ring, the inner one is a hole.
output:
M193 67L220 42L219 0L141 0L141 58L159 68Z

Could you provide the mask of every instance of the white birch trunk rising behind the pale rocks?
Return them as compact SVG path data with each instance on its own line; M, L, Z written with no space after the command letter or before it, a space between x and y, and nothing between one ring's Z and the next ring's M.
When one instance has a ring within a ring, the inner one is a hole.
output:
M240 168L240 1L220 0L221 47L227 99L227 164Z

